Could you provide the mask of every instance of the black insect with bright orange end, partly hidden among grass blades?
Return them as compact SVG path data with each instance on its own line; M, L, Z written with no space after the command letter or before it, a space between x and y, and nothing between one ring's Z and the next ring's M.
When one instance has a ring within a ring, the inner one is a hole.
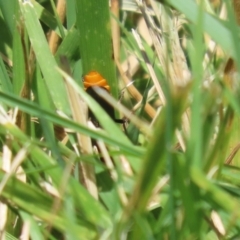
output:
M103 98L101 98L96 91L94 90L94 87L100 87L106 92L110 93L110 86L108 85L106 79L103 78L103 76L96 72L91 71L88 74L86 74L83 77L83 84L85 91L97 101L101 107L106 111L106 113L117 123L125 123L123 119L116 119L114 114L114 108L106 102ZM89 118L94 123L94 125L99 126L99 123L92 111L89 111L88 113Z

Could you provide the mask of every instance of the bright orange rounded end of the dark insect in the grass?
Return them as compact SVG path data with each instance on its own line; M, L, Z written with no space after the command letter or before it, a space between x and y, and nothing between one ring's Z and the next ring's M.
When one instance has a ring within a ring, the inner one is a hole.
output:
M110 91L110 86L108 85L106 79L103 76L95 71L91 71L86 74L83 78L85 90L89 87L102 87L105 88L108 92Z

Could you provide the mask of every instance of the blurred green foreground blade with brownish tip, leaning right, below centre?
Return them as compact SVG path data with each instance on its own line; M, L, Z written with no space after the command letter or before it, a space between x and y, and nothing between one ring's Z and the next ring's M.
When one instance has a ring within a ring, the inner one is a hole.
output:
M146 209L146 205L148 199L151 195L153 187L155 186L157 179L161 174L165 172L166 167L166 155L168 154L166 147L170 148L169 144L170 139L173 139L174 129L176 129L179 124L180 117L184 108L183 99L180 96L184 96L186 93L183 91L177 96L174 100L172 100L172 105L168 106L172 108L172 112L174 112L174 118L172 119L171 124L171 133L166 139L165 131L167 121L169 119L166 117L166 109L161 113L159 119L155 126L155 134L151 139L151 144L148 145L146 154L144 156L144 163L142 166L142 170L139 174L138 180L136 182L136 186L132 195L131 202L129 207L135 209L138 212L144 212ZM166 142L167 140L167 142ZM161 148L159 146L161 143ZM167 146L166 146L166 145ZM171 154L171 152L169 153ZM131 209L131 210L132 210ZM126 213L127 215L131 213Z

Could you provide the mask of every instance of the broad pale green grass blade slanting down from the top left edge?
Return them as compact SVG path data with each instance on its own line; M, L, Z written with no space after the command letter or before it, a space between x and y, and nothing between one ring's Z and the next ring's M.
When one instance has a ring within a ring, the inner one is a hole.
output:
M46 37L38 21L34 6L30 1L20 2L26 29L46 85L57 109L69 113L69 104L61 75L56 71L57 63L51 54Z

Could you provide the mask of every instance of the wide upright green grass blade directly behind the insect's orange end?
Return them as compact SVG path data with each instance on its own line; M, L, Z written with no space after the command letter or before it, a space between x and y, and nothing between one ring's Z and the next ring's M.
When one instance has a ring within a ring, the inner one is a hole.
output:
M114 67L109 5L106 0L76 0L77 26L83 73L98 71L108 81L116 98L118 86Z

